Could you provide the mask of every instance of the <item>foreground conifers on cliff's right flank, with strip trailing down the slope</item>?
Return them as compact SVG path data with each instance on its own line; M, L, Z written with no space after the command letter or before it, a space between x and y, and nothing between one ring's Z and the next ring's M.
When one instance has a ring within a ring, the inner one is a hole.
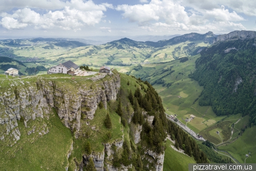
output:
M140 84L142 81L138 79L138 83ZM166 148L165 138L169 134L176 141L177 149L184 150L184 153L194 157L197 163L208 163L206 154L200 150L196 141L172 121L166 119L162 100L153 86L147 81L144 84L148 87L145 89L141 84L145 92L144 95L142 95L140 88L137 88L134 93L130 91L128 95L128 99L134 109L132 122L133 124L142 125L140 145L146 146L157 153L163 153ZM117 113L119 113L118 111ZM154 116L152 125L145 121L147 119L144 119L143 111L146 111L148 115ZM143 154L141 153L141 155Z

